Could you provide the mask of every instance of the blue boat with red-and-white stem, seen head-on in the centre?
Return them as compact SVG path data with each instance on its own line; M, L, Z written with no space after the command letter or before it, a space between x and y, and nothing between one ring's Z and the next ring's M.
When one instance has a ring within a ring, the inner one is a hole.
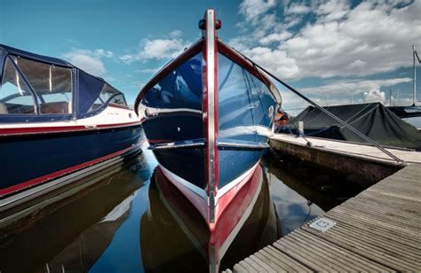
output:
M265 74L220 41L213 10L199 27L203 37L147 82L135 111L158 168L210 230L207 253L216 271L261 187L258 162L281 97Z

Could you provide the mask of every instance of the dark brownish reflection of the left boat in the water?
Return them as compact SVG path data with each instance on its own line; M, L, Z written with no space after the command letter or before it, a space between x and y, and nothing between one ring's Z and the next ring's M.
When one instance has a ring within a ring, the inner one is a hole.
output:
M79 181L83 186L93 185L73 195L68 194L77 189L68 189L61 199L54 198L53 205L48 204L52 199L46 199L44 207L20 221L4 225L0 218L0 271L86 272L99 263L123 222L128 221L131 203L142 193L138 190L147 192L144 185L152 173L143 154L122 164ZM147 200L138 199L146 210ZM139 259L127 261L137 261L141 269Z

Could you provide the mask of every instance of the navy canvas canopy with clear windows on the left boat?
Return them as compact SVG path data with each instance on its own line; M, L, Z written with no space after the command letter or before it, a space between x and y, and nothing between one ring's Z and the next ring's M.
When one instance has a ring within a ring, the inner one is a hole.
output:
M66 121L108 104L127 107L123 93L60 58L0 44L0 122Z

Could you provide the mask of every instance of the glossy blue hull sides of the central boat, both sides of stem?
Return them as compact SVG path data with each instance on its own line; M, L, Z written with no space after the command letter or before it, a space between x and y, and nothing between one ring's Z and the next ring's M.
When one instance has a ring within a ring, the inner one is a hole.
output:
M202 75L192 71L200 59L201 54L190 58L158 82L143 98L141 109L145 113L154 111L147 115L143 128L159 163L205 189L207 158ZM277 102L263 82L220 53L218 79L220 189L260 160L272 129ZM189 146L192 142L195 145Z

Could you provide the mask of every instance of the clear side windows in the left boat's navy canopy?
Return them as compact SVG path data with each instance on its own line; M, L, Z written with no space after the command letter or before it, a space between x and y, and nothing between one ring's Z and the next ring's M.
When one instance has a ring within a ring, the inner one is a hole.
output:
M19 67L21 74L15 66ZM29 91L22 74L35 94ZM6 58L0 92L0 113L36 113L36 99L41 114L72 113L71 69L28 58Z

